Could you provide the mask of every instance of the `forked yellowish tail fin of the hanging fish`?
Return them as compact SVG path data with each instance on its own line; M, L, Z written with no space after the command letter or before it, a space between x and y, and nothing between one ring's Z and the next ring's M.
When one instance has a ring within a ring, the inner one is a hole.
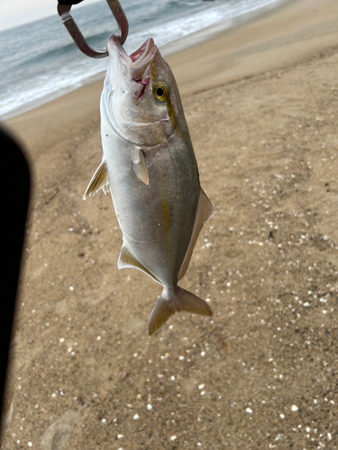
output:
M160 329L160 326L176 311L193 312L194 314L203 314L205 316L213 315L209 305L193 293L189 293L181 287L178 287L177 292L172 295L169 295L164 290L151 312L151 317L148 321L148 336Z

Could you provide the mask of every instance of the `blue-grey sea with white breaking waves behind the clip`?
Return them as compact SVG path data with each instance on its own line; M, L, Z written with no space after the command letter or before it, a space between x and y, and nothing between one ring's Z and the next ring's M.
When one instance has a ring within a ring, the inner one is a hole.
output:
M280 1L280 0L279 0ZM55 2L56 3L56 2ZM144 40L163 45L216 23L233 20L278 0L122 0L129 23L124 48ZM72 7L73 18L95 49L118 33L105 1ZM76 47L57 12L0 32L0 120L65 94L105 71L106 58L88 58Z

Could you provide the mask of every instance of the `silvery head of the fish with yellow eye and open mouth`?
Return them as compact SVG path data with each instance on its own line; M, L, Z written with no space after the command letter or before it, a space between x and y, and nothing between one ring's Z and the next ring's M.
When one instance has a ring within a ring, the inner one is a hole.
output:
M148 147L169 139L184 115L175 78L154 41L146 40L128 55L113 35L108 52L103 95L114 129Z

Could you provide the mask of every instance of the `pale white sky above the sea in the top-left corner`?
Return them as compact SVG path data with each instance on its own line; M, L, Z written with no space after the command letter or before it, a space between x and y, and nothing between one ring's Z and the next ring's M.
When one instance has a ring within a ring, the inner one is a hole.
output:
M97 1L84 0L72 8L80 8L83 4ZM0 0L0 31L36 21L48 15L58 14L57 8L58 0Z

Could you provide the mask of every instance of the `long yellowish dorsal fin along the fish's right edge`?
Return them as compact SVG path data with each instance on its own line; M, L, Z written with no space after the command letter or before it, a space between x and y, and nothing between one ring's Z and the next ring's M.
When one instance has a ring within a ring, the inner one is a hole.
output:
M201 231L203 225L215 214L215 210L210 200L207 198L206 193L201 188L199 192L198 205L196 211L196 219L194 223L193 232L191 233L191 238L189 241L189 245L187 246L186 256L183 259L182 265L178 272L178 280L183 278L183 276L187 272L187 266L189 266L189 262L191 259L191 255L193 254L193 250L196 244L196 240L198 238L199 232Z

